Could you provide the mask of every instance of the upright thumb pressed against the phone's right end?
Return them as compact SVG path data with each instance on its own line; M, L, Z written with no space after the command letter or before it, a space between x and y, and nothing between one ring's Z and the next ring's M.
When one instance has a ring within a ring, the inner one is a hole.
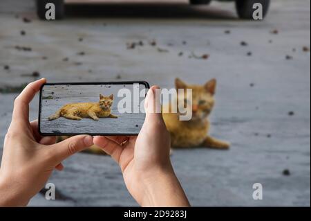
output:
M161 89L158 86L152 86L144 100L144 109L146 111L145 122L148 124L164 125L161 108Z

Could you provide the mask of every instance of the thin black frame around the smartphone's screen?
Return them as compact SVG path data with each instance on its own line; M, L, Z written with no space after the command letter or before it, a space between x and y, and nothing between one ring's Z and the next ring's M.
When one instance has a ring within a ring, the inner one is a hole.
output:
M136 136L138 134L131 134L131 133L43 133L41 132L41 98L42 98L42 89L46 85L133 85L133 84L140 84L144 85L148 91L150 89L149 83L147 81L117 81L117 82L48 82L44 85L41 85L40 92L39 92L39 116L38 116L38 132L41 136L73 136L73 135L80 135L80 134L88 134L91 136ZM144 95L146 97L147 93ZM146 114L144 114L146 117Z

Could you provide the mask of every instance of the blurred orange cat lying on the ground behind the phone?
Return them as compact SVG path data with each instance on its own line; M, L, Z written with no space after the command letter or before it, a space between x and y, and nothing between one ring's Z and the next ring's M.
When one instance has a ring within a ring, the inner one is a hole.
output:
M204 86L187 85L180 79L175 80L176 89L192 89L192 118L190 121L180 121L179 113L162 114L167 130L171 133L172 148L229 148L229 143L209 136L209 121L207 117L214 107L216 80L209 80ZM185 94L184 103L189 96ZM171 107L169 107L171 108Z

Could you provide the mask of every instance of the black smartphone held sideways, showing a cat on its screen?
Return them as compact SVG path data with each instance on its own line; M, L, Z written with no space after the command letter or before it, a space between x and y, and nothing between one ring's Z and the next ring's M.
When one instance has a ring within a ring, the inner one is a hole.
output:
M137 135L148 82L46 83L39 96L39 134Z

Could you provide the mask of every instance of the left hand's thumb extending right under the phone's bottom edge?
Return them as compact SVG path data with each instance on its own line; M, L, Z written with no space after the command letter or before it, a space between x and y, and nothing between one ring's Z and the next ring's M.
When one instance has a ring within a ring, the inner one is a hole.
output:
M72 136L62 142L50 145L50 148L53 149L53 154L56 158L56 161L62 162L64 159L70 157L76 152L80 152L86 148L89 148L93 144L93 136L79 135Z

